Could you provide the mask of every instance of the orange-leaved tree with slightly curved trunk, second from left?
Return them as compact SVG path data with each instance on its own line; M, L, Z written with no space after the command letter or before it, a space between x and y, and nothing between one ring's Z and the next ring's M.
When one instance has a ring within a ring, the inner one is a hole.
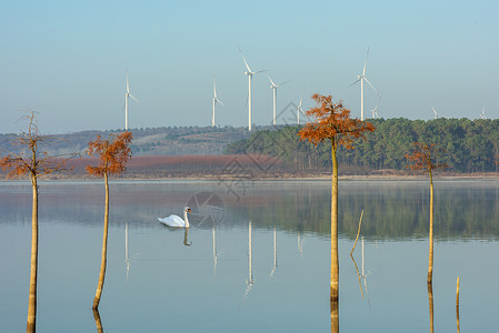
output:
M93 299L92 309L99 306L100 296L104 285L107 253L108 253L108 229L109 229L109 182L108 176L111 174L122 174L126 171L126 164L131 158L130 142L132 140L131 132L121 134L111 133L107 139L97 135L94 141L90 141L87 153L89 155L99 157L97 167L87 167L90 175L102 176L106 185L106 208L104 208L104 228L102 238L102 260L100 265L99 282L97 284L96 297Z

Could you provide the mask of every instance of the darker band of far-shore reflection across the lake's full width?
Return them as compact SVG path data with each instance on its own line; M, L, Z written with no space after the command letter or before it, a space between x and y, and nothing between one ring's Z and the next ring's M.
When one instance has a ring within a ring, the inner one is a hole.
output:
M253 229L275 226L291 233L316 233L329 238L330 183L259 182L237 202L224 188L212 182L199 184L121 184L111 192L111 228L159 228L158 216L181 213L188 200L201 190L216 190L224 203L219 229L241 228L251 220ZM30 219L30 195L0 192L0 223L26 223ZM71 195L68 195L71 193ZM41 195L41 223L101 225L100 196L96 184L54 185L46 183ZM258 208L257 210L255 208ZM429 186L427 181L340 181L340 236L355 239L360 212L361 233L368 238L427 238ZM499 236L499 183L436 182L435 234L438 239ZM211 220L196 228L210 229Z

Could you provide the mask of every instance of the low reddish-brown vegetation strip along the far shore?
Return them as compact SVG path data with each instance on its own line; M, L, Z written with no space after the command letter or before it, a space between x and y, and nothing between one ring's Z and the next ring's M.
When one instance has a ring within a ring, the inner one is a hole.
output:
M97 158L74 158L67 162L67 170L43 176L43 180L87 180L93 179L86 173L88 165L94 165ZM341 164L340 164L341 167ZM450 170L439 171L439 179L499 178L497 172L460 173ZM361 168L340 168L340 178L349 179L425 179L425 174L406 170ZM271 155L230 154L230 155L177 155L177 157L132 157L127 171L114 179L330 179L331 170L293 171L286 168L280 159ZM6 180L0 171L0 179Z

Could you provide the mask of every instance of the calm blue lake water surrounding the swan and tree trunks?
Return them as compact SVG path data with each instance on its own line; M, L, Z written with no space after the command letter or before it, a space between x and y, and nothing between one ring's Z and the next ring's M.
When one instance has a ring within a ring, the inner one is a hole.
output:
M111 182L104 332L330 331L330 182ZM499 181L435 190L435 332L457 331L458 276L460 330L495 332ZM40 184L38 332L97 331L103 194ZM430 331L428 202L427 180L340 181L340 332ZM158 222L188 203L187 235ZM0 332L26 330L30 242L30 184L1 182Z

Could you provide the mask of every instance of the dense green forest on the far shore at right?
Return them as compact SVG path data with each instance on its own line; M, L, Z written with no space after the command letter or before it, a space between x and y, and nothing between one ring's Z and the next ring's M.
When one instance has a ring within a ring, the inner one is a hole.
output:
M405 155L413 142L432 142L443 150L442 163L451 172L497 172L499 161L499 120L490 119L371 119L376 131L365 140L355 139L356 149L338 148L338 163L343 172L369 173L373 170L405 170ZM271 154L291 170L330 170L329 144L300 141L302 125L263 129L250 138L226 147L227 154Z

